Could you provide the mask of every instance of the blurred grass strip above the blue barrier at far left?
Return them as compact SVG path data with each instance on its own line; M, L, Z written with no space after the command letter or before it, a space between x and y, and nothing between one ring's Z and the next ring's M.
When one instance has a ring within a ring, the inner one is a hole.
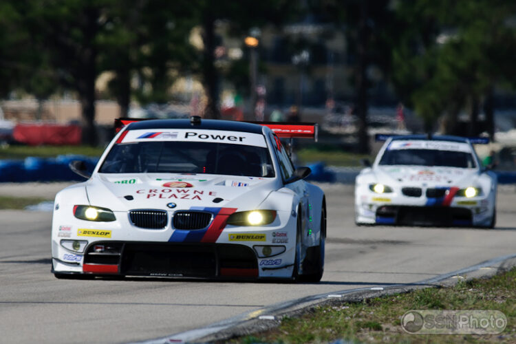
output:
M57 155L80 154L99 157L103 148L88 146L19 146L0 147L0 159L24 159L28 156L39 158L55 158Z

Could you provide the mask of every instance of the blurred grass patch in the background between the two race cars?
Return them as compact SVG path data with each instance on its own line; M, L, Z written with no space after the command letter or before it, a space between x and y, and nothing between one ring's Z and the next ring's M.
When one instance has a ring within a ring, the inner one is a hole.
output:
M361 159L373 160L370 155L350 153L330 146L300 149L297 157L303 164L322 161L327 166L361 166Z

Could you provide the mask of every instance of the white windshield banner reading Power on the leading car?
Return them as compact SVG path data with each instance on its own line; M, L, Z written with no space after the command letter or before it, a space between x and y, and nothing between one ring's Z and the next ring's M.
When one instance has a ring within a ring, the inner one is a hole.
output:
M263 135L241 131L196 130L196 129L138 129L128 131L119 143L184 141L184 142L219 142L244 144L246 146L264 147Z

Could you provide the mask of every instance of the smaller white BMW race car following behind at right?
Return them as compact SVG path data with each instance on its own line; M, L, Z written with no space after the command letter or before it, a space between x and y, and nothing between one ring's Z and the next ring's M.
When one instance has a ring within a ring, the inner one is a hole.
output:
M469 139L392 136L356 177L355 222L493 228L496 191Z

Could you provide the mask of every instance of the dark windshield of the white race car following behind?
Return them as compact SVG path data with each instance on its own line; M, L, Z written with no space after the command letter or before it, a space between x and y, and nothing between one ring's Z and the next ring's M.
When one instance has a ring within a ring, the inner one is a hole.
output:
M438 149L393 149L386 150L380 165L447 166L474 169L475 159L464 151L440 151Z

